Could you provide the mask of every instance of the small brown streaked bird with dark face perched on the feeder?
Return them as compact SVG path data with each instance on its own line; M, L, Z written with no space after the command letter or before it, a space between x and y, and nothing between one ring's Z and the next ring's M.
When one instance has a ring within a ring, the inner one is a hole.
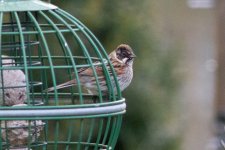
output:
M134 54L132 48L127 44L120 44L115 50L113 50L109 55L109 60L116 72L117 80L119 83L120 90L126 89L133 78L133 62L136 55ZM78 70L78 77L81 86L83 86L89 94L98 95L99 91L97 88L96 80L99 81L101 92L106 95L108 93L108 87L106 78L104 75L103 68L99 65L95 65L99 62L94 62L95 70L97 73L97 79L94 76L94 71L91 67L83 67ZM110 79L112 81L113 90L117 93L116 84L114 82L112 71L107 64L107 69L110 73ZM46 91L51 92L54 90L71 87L77 85L76 79L72 79L68 82L57 85L56 87L50 87Z

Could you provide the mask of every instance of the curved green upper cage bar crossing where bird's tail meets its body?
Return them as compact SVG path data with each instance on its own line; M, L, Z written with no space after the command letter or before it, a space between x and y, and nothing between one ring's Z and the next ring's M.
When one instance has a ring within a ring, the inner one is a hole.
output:
M51 11L50 11L51 12ZM48 23L49 24L51 24L52 25L52 27L57 31L57 33L58 33L58 38L60 39L60 40L62 40L62 42L63 43L67 43L66 42L66 40L65 40L65 38L63 37L63 35L62 35L62 33L59 31L59 29L57 28L57 26L54 24L54 22L45 14L45 13L43 13L42 11L39 11L39 13L48 21ZM63 44L64 45L64 44ZM65 45L64 45L65 46ZM76 64L75 64L75 62L73 61L73 59L72 59L72 53L71 53L71 51L70 51L70 48L69 48L69 46L68 46L68 44L67 44L67 46L65 46L65 47L63 47L63 48L65 48L65 50L67 50L67 52L68 52L68 54L69 54L69 56L70 56L70 59L71 59L71 62L72 62L72 65L73 65L73 68L74 68L74 74L75 74L75 79L76 79L76 81L77 81L77 86L78 86L78 91L79 91L79 93L81 93L80 94L80 96L79 96L79 98L80 98L80 101L81 101L81 103L83 102L83 97L82 97L82 90L81 90L81 84L80 84L80 80L79 80L79 76L78 76L78 71L77 71L77 69L76 69ZM54 85L55 87L56 87L56 85ZM56 89L54 89L54 91L55 92L57 92L57 90Z

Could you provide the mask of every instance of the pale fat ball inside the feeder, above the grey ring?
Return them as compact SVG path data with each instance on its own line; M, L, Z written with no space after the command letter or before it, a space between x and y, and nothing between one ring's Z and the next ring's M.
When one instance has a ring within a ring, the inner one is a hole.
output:
M1 57L3 69L0 70L0 105L23 104L27 99L25 74L20 69L4 69L15 67L15 61L6 55Z

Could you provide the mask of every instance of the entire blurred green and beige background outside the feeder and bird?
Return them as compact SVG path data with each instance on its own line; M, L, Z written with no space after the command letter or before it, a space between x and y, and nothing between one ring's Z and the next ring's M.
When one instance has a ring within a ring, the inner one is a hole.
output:
M117 150L224 149L224 0L51 2L137 55Z

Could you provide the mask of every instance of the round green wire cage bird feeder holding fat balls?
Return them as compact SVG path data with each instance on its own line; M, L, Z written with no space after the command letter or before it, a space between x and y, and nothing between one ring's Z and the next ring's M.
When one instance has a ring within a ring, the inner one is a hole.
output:
M81 68L93 70L97 95L81 86ZM72 79L77 85L56 89ZM113 150L126 109L100 42L74 16L40 0L0 0L0 104L2 150Z

